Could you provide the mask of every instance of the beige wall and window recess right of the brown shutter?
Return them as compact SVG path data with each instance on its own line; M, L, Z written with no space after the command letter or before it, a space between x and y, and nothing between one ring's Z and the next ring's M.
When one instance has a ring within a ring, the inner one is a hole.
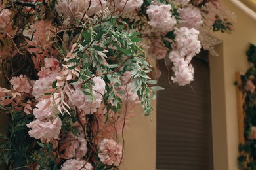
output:
M220 56L212 56L211 92L213 114L213 154L215 170L235 170L238 157L238 116L236 109L235 72L248 68L245 52L249 42L256 44L256 21L230 1L221 1L236 13L238 22L231 35L216 33L223 40L217 46Z

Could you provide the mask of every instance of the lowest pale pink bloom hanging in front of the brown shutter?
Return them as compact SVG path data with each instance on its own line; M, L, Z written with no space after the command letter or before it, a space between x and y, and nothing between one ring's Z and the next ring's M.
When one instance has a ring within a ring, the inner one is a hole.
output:
M188 60L185 60L175 51L170 52L169 58L173 62L172 69L175 75L171 77L171 80L177 82L180 86L190 84L194 80L194 68L189 64Z

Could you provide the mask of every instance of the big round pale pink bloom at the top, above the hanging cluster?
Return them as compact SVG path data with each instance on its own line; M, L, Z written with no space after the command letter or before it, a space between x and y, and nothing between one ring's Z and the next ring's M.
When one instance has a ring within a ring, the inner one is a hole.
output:
M150 5L146 10L150 24L155 29L159 29L163 33L173 30L176 19L171 14L171 5Z

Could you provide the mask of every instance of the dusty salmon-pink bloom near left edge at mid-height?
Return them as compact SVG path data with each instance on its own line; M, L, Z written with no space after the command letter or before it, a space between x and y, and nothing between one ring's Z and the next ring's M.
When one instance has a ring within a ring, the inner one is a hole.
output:
M28 77L25 75L20 76L12 76L11 79L12 89L16 92L20 93L31 93L32 92L32 86L28 80Z

